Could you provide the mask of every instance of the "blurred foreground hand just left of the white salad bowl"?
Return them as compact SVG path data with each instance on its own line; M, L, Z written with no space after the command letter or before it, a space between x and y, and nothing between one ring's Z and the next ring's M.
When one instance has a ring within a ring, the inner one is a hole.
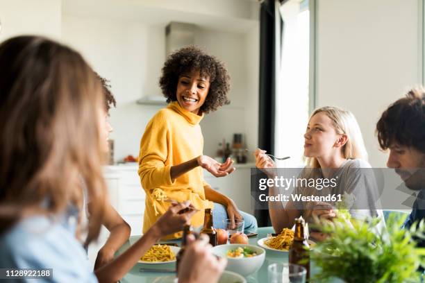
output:
M198 241L193 235L188 237L188 248L178 268L179 283L215 283L218 282L227 264L227 259L215 257L208 243L208 236L201 234Z

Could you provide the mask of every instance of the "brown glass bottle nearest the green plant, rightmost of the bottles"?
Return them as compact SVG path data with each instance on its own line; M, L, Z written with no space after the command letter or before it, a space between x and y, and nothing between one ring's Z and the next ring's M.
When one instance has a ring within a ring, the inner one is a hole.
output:
M295 218L294 241L289 250L289 262L290 264L298 264L306 268L306 279L308 280L310 278L310 246L308 245L304 229L304 219L302 217Z

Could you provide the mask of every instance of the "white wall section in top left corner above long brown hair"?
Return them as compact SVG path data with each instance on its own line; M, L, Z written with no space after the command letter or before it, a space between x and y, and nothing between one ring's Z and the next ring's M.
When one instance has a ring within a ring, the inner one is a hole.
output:
M23 34L59 39L61 3L60 0L0 0L0 42Z

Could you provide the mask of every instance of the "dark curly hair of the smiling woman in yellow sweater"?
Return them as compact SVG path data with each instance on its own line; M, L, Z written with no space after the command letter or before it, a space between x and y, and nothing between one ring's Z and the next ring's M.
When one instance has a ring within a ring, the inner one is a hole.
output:
M197 46L178 49L167 58L159 81L167 103L177 101L176 89L181 74L195 70L199 70L201 76L210 78L210 89L200 109L202 113L213 112L220 106L230 103L227 98L230 76L224 63Z

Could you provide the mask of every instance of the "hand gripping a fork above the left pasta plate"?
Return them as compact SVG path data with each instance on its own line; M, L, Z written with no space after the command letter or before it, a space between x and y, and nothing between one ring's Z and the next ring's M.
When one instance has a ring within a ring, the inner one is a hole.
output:
M185 224L190 223L190 218L198 211L189 200L183 203L172 202L171 207L163 216L158 218L151 229L154 229L159 237L165 237L183 230Z

